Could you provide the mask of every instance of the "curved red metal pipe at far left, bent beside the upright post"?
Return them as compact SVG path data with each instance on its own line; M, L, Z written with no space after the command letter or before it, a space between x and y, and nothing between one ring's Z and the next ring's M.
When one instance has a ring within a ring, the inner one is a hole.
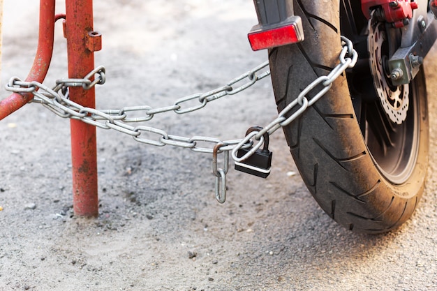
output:
M40 21L38 34L38 48L34 64L27 75L27 82L42 83L47 70L49 69L50 61L53 52L53 37L54 37L54 0L40 1ZM15 110L29 103L34 96L30 93L11 94L8 98L0 101L0 120L7 117Z

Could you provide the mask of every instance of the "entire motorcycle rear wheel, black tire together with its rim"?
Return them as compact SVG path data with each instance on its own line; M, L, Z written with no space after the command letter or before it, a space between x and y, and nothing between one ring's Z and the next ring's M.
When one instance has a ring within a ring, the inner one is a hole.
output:
M360 53L366 25L357 1L322 5L297 0L294 9L302 17L305 40L269 50L279 112L306 85L336 66L341 34L354 40ZM388 232L407 221L422 196L427 172L429 125L423 70L409 84L409 107L401 124L387 118L375 96L364 57L299 119L283 128L313 197L334 221L354 232Z

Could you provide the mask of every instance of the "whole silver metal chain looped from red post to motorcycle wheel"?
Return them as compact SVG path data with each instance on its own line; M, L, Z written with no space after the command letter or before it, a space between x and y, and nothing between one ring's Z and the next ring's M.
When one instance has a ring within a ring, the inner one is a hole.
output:
M105 83L105 68L103 66L95 68L83 79L57 80L56 86L53 88L49 88L40 82L24 82L17 77L13 77L8 84L6 84L6 90L19 94L31 93L34 95L32 102L40 103L59 117L79 119L99 128L117 130L120 133L131 135L137 142L150 144L156 147L171 145L173 147L183 147L191 149L192 151L213 154L212 172L216 177L216 199L218 202L223 203L226 199L226 173L228 172L229 151L232 153L232 159L237 162L249 158L249 156L251 156L264 143L263 135L266 133L272 135L272 133L279 128L287 126L297 119L297 117L299 117L307 107L316 103L316 101L331 88L332 82L334 82L334 80L336 80L336 78L339 77L346 68L352 68L355 66L357 62L357 52L353 49L352 42L343 36L341 37L341 40L343 48L339 55L339 64L329 73L329 75L318 77L311 82L311 84L309 84L295 100L279 112L279 116L276 119L265 126L262 130L251 132L242 140L222 141L215 137L204 136L182 137L178 135L170 135L165 132L165 130L159 128L142 125L131 126L130 124L149 121L156 114L161 114L163 112L173 111L177 114L184 114L200 110L205 107L207 103L213 100L244 91L255 84L255 82L270 75L270 72L267 69L267 66L269 65L268 61L265 61L252 70L235 77L222 87L218 87L217 89L205 93L185 96L177 99L173 105L158 108L153 108L148 105L140 105L122 107L118 110L96 110L71 101L68 98L68 87L83 87L84 89L90 89L96 84ZM310 92L313 96L307 98ZM198 100L198 103L196 103L195 100ZM131 116L138 112L141 112L144 115L140 117ZM290 117L286 117L289 112L293 113ZM145 132L156 135L156 139L151 140L147 137L141 137L142 133ZM253 140L258 142L255 143ZM200 147L198 146L200 142L209 142L212 144L212 147ZM239 149L249 148L251 149L247 154L240 158L237 157L237 151ZM223 168L219 168L217 166L217 156L222 152L225 153L223 161L224 166Z

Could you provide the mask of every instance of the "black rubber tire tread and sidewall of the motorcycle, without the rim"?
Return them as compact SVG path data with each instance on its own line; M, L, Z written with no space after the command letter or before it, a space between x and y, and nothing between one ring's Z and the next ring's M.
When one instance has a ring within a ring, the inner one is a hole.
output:
M341 50L339 2L322 5L315 0L297 0L294 9L295 15L302 17L305 40L269 51L279 111L307 84L327 75L338 64ZM415 146L404 152L413 162L408 163L408 177L402 183L387 177L372 157L345 75L302 117L283 128L304 183L320 207L340 225L354 232L387 232L413 214L422 196L429 150L422 70L410 83L408 114L413 127L402 134Z

